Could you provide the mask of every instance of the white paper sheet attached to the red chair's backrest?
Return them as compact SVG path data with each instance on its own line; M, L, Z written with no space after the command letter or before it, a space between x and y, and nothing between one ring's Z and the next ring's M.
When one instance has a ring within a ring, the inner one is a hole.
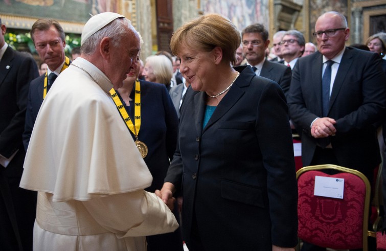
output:
M344 178L315 176L313 195L343 199Z

